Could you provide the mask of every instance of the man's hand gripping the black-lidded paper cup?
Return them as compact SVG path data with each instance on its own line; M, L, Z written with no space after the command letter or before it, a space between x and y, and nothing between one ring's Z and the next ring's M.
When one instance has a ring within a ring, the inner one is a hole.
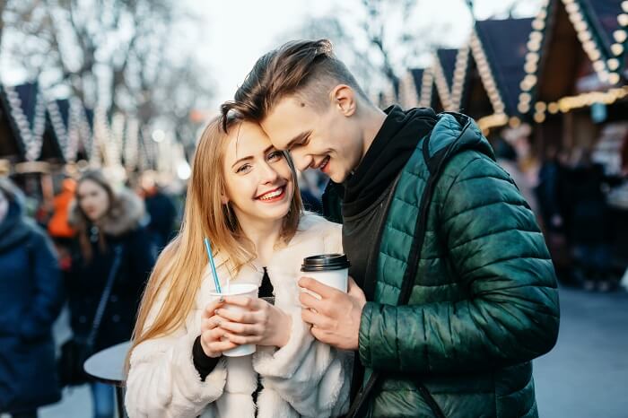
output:
M349 292L340 292L310 277L301 277L299 285L320 295L321 300L302 292L301 318L312 325L311 333L318 341L343 350L357 350L364 292L349 277Z

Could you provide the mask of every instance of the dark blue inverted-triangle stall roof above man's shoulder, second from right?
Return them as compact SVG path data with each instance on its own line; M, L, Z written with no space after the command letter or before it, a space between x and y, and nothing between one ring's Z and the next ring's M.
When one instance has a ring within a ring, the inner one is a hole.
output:
M526 75L524 64L532 19L488 20L475 23L484 54L502 96L506 114L515 115L519 84Z

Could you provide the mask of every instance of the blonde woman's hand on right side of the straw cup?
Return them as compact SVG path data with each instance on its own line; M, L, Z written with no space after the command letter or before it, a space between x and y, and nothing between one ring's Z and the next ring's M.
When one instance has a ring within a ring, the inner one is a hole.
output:
M229 305L245 310L229 310ZM292 318L266 300L227 296L216 314L221 318L221 329L227 332L227 338L235 344L272 345L281 348L290 339Z

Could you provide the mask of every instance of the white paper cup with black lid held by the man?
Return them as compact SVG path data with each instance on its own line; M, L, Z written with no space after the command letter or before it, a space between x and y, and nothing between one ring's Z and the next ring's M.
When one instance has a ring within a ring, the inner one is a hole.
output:
M347 292L349 266L349 261L343 254L321 254L304 258L301 272L304 276L318 280L318 282L333 287L340 292ZM309 293L320 299L318 294Z

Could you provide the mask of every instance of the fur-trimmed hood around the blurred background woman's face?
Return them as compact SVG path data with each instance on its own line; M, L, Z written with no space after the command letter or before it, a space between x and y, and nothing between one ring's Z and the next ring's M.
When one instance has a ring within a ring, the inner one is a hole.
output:
M83 215L80 213L76 200L69 208L68 223L75 229L83 227ZM129 189L116 193L114 206L102 219L94 222L106 235L118 237L136 230L142 225L145 215L144 202Z

